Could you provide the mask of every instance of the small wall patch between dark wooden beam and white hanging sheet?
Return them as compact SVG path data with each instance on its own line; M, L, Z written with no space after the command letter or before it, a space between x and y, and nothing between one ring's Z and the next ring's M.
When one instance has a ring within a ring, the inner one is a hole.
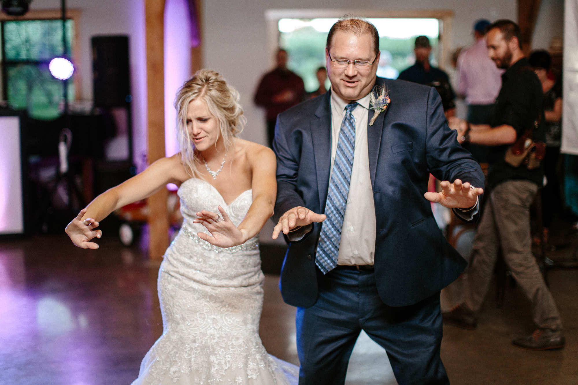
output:
M554 36L564 35L564 0L542 0L532 35L532 49L547 50Z

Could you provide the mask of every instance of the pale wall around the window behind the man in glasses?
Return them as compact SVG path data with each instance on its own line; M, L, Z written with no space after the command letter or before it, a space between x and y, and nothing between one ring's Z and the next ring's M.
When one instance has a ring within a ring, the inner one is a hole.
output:
M205 0L202 5L204 65L223 73L239 90L247 116L243 138L262 144L265 144L264 112L254 106L253 93L258 80L271 65L271 53L266 50L264 14L266 9L287 8L451 9L455 13L454 46L468 45L472 41L472 24L477 18L516 20L516 0Z

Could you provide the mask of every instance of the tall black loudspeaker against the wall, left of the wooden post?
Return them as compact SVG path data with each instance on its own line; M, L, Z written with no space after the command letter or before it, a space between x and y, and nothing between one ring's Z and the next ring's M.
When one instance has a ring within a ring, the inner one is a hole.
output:
M92 36L92 84L95 107L119 107L131 101L128 36Z

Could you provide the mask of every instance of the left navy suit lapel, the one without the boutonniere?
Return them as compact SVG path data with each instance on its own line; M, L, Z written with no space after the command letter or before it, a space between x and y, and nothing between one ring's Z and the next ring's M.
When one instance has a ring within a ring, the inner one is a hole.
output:
M325 96L319 104L315 116L310 121L311 137L313 142L313 156L317 172L317 192L319 194L319 207L325 208L327 190L329 189L329 170L331 169L331 106L329 98L331 91L325 92Z

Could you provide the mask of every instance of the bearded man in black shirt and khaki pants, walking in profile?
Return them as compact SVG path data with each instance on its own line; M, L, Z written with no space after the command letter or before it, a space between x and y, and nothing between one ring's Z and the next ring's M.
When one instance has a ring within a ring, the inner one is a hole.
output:
M529 206L542 187L543 166L513 167L504 160L509 145L534 127L536 120L543 120L542 86L524 57L518 25L498 20L487 31L488 55L498 68L507 70L502 75L492 124L469 124L452 118L450 127L457 129L459 142L492 146L490 193L472 246L464 302L443 317L460 327L476 327L477 312L501 247L512 276L532 303L533 321L538 326L532 335L514 339L513 344L532 350L560 349L565 342L560 314L531 250ZM544 140L542 127L533 128L532 139Z

